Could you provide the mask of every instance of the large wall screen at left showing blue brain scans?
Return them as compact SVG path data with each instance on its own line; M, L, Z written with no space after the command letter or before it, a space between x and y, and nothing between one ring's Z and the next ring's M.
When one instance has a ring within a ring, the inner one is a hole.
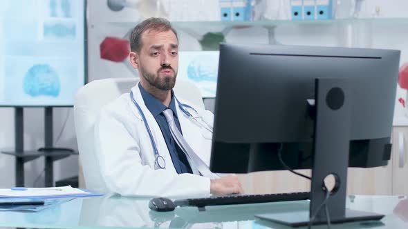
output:
M84 1L0 2L0 106L73 106L85 83Z

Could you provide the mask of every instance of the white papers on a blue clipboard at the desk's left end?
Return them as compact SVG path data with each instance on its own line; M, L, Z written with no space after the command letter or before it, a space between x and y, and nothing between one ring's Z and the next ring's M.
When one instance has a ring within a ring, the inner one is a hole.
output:
M64 198L64 197L93 197L102 194L82 190L80 188L72 188L71 186L50 187L50 188L0 188L1 198Z

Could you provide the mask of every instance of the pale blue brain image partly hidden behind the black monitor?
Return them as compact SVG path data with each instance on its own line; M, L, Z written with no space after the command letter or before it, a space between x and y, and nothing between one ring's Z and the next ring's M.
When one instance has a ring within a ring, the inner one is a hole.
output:
M187 76L193 81L216 82L218 61L204 55L195 57L187 67Z

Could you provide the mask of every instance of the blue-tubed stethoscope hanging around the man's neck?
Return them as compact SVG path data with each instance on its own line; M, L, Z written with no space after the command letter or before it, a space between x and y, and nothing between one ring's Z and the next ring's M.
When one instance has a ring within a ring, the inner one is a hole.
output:
M153 151L154 151L154 155L155 155L155 159L154 159L155 169L156 170L157 169L165 169L166 168L166 161L158 153L156 142L154 141L153 135L151 134L151 130L149 128L149 124L147 123L145 114L143 113L142 108L140 108L139 104L136 102L135 98L133 97L133 92L132 91L130 92L130 98L131 98L131 101L133 101L133 103L135 104L136 108L138 108L138 110L140 112L140 115L142 115L142 119L143 119L143 122L145 123L147 134L149 134L150 143L151 143L151 146L153 147ZM201 126L202 128L205 128L205 130L208 130L208 131L210 131L212 133L212 126L210 126L209 123L207 123L200 115L198 115L198 112L196 111L196 109L192 108L192 106L189 106L187 104L180 103L180 101L178 101L176 96L174 96L174 99L176 99L176 101L178 103L178 108L180 108L180 110L185 115L187 115L187 117L189 117L190 119L196 121L198 126ZM194 111L196 116L193 116L188 110ZM201 121L198 121L198 119L200 119Z

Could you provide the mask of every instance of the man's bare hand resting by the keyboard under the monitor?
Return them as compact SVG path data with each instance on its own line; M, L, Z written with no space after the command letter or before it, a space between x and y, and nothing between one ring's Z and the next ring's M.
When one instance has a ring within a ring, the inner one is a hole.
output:
M241 183L235 176L212 179L210 192L215 195L243 194Z

